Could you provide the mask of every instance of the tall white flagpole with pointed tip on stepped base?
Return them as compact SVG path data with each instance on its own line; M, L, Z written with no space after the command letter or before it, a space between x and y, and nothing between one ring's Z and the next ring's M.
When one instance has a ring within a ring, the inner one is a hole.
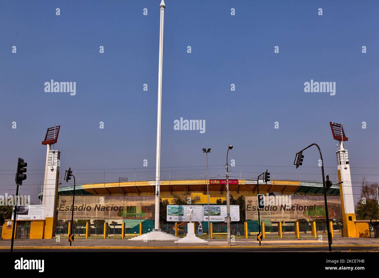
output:
M160 164L161 164L161 110L162 110L162 60L163 60L163 19L164 1L160 4L160 36L159 36L159 68L158 68L158 113L157 113L157 161L155 164L155 224L154 230L159 231L159 195L160 195Z

